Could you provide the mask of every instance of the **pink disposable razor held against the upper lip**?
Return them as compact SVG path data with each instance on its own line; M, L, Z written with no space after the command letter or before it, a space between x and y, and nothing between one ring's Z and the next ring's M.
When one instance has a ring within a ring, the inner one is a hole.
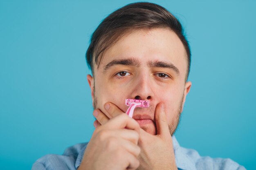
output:
M125 104L126 104L126 106L130 106L126 111L126 114L129 117L132 117L133 111L134 111L135 108L137 108L137 107L148 108L149 101L136 100L136 99L125 99Z

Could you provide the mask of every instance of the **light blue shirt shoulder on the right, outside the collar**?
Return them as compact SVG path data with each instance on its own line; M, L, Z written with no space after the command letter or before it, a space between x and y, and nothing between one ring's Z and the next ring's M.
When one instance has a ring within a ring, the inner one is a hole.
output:
M202 157L196 150L183 147L180 151L193 162L196 170L246 170L229 158Z

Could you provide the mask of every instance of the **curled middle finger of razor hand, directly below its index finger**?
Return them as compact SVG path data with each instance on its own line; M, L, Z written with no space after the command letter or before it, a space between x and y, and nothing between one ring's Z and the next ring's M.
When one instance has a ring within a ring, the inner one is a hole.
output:
M117 137L126 139L127 141L130 141L135 145L137 145L139 141L139 133L136 132L135 130L120 129L115 133L115 135Z

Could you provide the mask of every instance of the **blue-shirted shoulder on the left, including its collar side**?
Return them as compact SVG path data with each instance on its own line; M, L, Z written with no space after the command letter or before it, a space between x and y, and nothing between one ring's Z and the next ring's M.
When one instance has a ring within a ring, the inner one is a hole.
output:
M63 155L45 155L33 164L32 170L75 170L78 157L83 156L87 143L76 144L65 149Z

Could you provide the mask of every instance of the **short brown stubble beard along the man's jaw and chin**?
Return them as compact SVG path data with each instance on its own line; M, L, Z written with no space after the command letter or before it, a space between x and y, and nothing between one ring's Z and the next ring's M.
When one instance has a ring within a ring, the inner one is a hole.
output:
M95 108L98 108L98 100L97 100L97 96L96 96L96 93L95 93L95 88L93 90L93 93L94 93L93 108L95 110ZM178 110L175 113L175 115L176 115L175 118L173 120L171 120L171 122L168 122L169 132L170 132L171 136L173 136L173 134L177 130L178 125L180 124L180 115L181 115L182 110L183 110L183 99L184 99L184 95L182 96L182 99L180 100ZM156 125L155 125L155 128L156 128ZM148 128L142 127L142 129L147 132Z

